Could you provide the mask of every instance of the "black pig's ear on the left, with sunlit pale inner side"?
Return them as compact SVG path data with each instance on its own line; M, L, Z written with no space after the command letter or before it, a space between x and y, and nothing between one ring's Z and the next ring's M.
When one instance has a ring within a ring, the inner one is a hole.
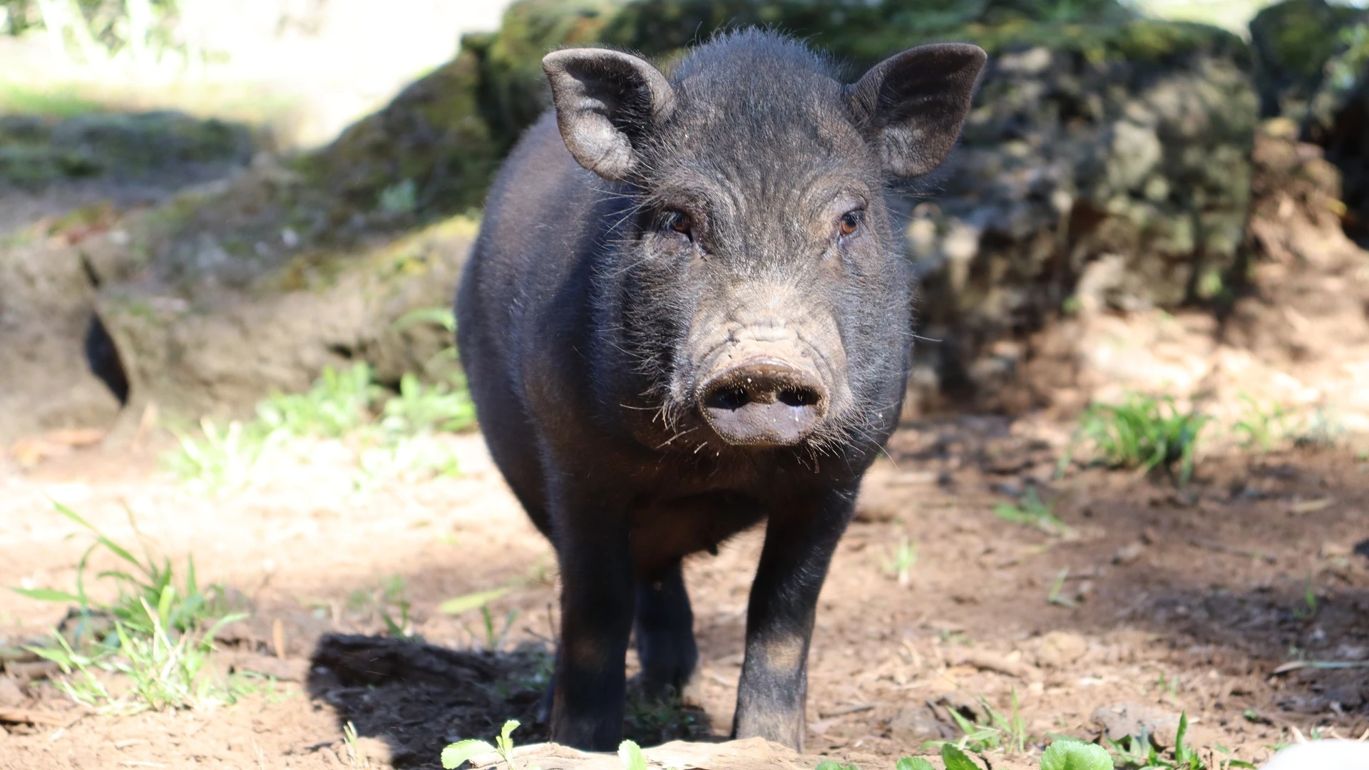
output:
M624 179L637 149L675 104L675 90L656 67L617 51L568 48L548 53L556 122L575 160L609 181Z

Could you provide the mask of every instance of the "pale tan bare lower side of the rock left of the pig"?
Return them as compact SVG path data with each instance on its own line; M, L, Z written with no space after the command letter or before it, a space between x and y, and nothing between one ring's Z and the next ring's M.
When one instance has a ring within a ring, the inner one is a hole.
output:
M123 427L148 403L186 418L246 415L271 392L304 390L324 367L361 360L385 384L439 378L450 336L396 323L450 303L474 234L472 221L452 218L372 247L301 249L238 286L142 271L101 288L97 312L129 382Z

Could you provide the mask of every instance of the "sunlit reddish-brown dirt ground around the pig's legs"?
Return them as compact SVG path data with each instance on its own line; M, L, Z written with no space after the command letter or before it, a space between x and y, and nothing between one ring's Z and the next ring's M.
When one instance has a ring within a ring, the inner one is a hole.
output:
M1054 481L1061 430L961 417L894 437L823 592L809 752L887 766L924 740L956 736L947 707L972 714L986 699L1008 712L1012 693L1038 738L1094 737L1095 710L1124 706L1161 722L1187 711L1195 741L1244 759L1268 756L1291 728L1369 729L1364 669L1275 673L1298 659L1369 658L1369 463L1343 448L1236 452L1206 458L1184 493L1121 471ZM251 597L256 614L230 629L222 656L281 681L214 712L127 718L84 714L38 682L5 704L31 721L3 725L0 767L346 767L346 721L378 767L437 767L445 743L489 737L511 717L526 725L523 743L545 737L534 722L556 621L554 562L479 438L455 441L460 478L366 496L327 444L223 499L162 477L153 448L74 452L10 473L0 584L74 584L88 538L45 496L134 543L127 504L156 551L193 554L201 580ZM1029 481L1068 534L991 512ZM917 555L906 585L887 570L902 538ZM690 696L700 708L635 712L638 740L726 733L758 545L749 533L690 563L702 656ZM383 633L364 597L393 575L413 630L434 647L324 636ZM491 604L496 633L517 615L498 651L485 649L478 612L437 611L501 585L515 588ZM0 595L5 645L62 612ZM283 660L272 660L277 640Z

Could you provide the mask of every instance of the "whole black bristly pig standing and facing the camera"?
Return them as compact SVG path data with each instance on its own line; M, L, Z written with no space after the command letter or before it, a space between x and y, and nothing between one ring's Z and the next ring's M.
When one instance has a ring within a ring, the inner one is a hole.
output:
M553 740L613 749L697 663L682 559L767 522L734 733L801 748L817 595L894 430L912 282L887 185L954 144L984 62L924 47L843 85L760 32L667 78L548 55L556 110L501 170L457 296L496 463L560 562Z

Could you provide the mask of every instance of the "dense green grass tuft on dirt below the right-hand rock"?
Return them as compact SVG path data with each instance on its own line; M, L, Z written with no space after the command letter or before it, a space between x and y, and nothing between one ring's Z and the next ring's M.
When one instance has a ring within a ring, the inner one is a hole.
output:
M1088 441L1112 467L1175 475L1177 463L1176 482L1184 486L1192 478L1198 438L1209 419L1197 411L1180 412L1170 396L1131 393L1121 404L1092 404L1080 418L1057 473L1073 459L1077 444Z

